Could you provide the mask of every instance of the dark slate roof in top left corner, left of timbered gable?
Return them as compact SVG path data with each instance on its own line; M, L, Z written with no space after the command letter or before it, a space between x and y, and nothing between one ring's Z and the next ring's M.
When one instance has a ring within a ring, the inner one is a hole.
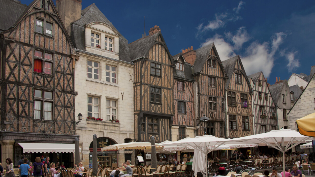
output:
M14 0L0 0L0 32L12 27L26 10L27 5Z

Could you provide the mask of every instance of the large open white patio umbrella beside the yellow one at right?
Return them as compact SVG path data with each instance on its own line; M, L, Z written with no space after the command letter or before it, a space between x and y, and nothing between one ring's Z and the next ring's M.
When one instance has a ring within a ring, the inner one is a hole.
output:
M258 146L271 146L279 151L282 152L283 155L283 171L285 168L285 157L284 152L288 151L289 149L297 146L301 142L306 140L314 140L315 137L304 136L301 135L298 131L290 130L290 129L281 129L281 130L272 130L267 133L261 133L257 135L251 136L244 136L240 138L234 138L231 140L227 140L226 143L229 141L237 141L237 142L248 142L248 143L255 143ZM285 175L285 173L284 173ZM284 176L285 177L285 176Z

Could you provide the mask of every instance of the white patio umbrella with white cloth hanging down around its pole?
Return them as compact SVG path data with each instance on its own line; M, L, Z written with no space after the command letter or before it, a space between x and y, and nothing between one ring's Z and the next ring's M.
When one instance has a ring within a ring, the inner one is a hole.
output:
M212 135L204 135L204 136L196 136L194 138L188 138L188 139L183 139L180 141L174 141L172 143L169 144L164 144L164 146L188 146L188 147L193 147L195 148L195 152L196 150L201 151L203 153L203 159L199 158L199 159L195 159L194 158L194 163L196 163L197 160L201 160L203 161L203 168L204 171L207 172L207 154L211 151L217 150L220 148L220 146L222 146L223 143L226 142L227 139L225 138L218 138ZM234 142L230 141L230 144L236 144L238 142ZM247 142L244 143L240 143L240 144L248 144ZM226 148L226 147L224 147ZM194 164L192 163L192 164ZM198 164L200 164L199 162L197 162ZM194 166L192 166L192 170L195 171L195 175L197 174L197 170L195 169ZM208 173L206 173L206 176L208 177Z

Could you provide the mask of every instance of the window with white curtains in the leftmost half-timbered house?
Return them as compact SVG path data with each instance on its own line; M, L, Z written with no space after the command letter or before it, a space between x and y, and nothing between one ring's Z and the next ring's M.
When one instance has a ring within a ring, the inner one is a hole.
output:
M34 119L52 120L53 92L35 89L34 91ZM44 103L44 104L43 104Z

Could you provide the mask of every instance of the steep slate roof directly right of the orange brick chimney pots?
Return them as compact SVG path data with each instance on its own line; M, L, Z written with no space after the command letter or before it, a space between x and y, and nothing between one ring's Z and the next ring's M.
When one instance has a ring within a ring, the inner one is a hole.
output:
M214 43L212 42L196 50L196 60L192 68L192 74L196 74L202 70L213 45Z

